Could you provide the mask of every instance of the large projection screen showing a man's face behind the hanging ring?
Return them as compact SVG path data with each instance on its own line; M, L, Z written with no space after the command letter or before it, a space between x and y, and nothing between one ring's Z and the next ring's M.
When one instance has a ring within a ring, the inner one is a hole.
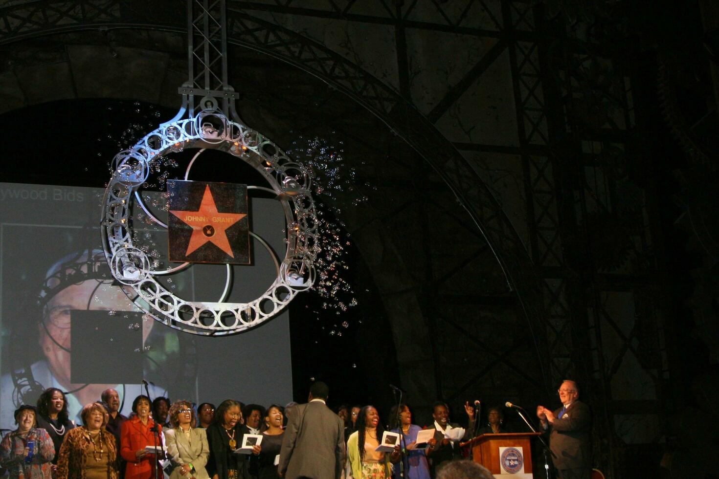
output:
M13 411L43 389L68 391L70 419L104 389L119 392L122 414L141 394L219 404L285 404L292 399L288 312L249 332L208 338L144 317L103 264L99 221L104 190L0 183L0 428L15 429ZM143 193L167 223L160 193ZM285 219L275 200L251 198L250 231L277 254ZM139 239L167 256L167 232L141 210ZM252 238L249 266L232 266L228 302L244 302L276 276L268 249ZM177 266L177 264L172 264ZM180 297L217 301L226 267L193 265L165 279ZM129 294L132 297L132 294ZM144 394L144 393L143 393Z

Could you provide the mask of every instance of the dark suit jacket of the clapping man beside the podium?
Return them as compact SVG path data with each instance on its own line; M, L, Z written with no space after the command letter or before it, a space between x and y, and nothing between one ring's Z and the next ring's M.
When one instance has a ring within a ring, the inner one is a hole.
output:
M554 416L559 417L559 411ZM549 424L549 449L557 469L590 469L592 466L592 412L582 401L569 404L562 419Z

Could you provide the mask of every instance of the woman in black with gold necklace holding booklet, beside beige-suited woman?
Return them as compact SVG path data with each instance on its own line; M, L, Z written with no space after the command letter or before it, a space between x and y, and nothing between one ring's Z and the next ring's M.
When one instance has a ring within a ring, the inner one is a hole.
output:
M207 470L213 479L248 479L247 456L234 452L242 446L242 437L249 434L242 424L242 403L225 399L215 411L214 422L207 428L210 458ZM252 454L260 454L260 446Z

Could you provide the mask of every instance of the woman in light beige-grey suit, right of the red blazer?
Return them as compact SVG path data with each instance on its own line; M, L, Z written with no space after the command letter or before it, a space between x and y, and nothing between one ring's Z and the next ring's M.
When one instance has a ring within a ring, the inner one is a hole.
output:
M192 427L197 423L195 410L188 401L175 401L170 407L170 424L165 431L165 442L173 462L170 479L209 479L205 465L210 455L204 429Z

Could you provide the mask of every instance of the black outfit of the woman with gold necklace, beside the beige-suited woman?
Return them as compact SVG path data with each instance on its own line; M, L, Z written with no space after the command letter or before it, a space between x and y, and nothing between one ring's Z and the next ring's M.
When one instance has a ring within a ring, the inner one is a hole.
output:
M207 473L219 479L249 479L247 471L247 455L235 454L229 447L229 441L236 442L234 449L242 445L242 436L249 434L244 424L237 424L234 429L225 429L221 424L213 423L207 427L207 442L210 446L210 457L207 460Z

